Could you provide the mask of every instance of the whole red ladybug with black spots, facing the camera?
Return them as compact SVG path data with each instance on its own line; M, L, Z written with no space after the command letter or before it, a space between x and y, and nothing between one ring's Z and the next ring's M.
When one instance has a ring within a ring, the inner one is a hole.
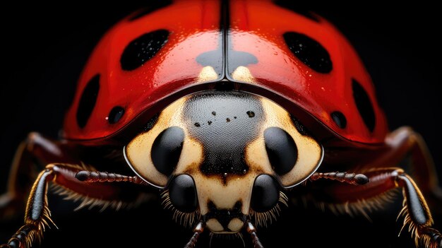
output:
M1 247L32 247L54 224L49 183L80 207L129 207L158 189L193 228L185 247L202 232L245 232L263 247L257 230L292 198L366 215L402 189L404 228L441 247L424 198L441 190L426 145L408 127L388 131L369 74L333 25L280 1L161 3L104 35L62 138L32 133L19 146L2 208L24 197L20 177L35 160L46 166L24 225ZM414 179L390 167L409 154Z

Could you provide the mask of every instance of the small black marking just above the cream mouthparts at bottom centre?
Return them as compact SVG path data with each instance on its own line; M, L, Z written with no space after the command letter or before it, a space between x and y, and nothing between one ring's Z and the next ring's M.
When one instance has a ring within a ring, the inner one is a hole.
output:
M207 206L209 208L209 212L204 215L204 219L210 220L211 218L215 218L222 225L224 230L229 230L228 225L230 220L233 220L234 218L239 218L241 220L243 217L243 214L241 213L241 201L237 201L233 208L220 209L217 208L215 203L212 201L209 201Z

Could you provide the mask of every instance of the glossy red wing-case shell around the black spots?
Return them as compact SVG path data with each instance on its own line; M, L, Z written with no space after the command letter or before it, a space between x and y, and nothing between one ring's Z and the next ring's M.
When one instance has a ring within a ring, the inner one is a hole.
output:
M106 140L130 126L159 100L205 82L198 81L203 65L196 58L219 50L221 3L219 1L175 1L136 20L122 20L104 35L80 76L73 105L66 114L64 138L77 141ZM358 143L383 143L386 119L376 101L374 85L350 43L323 18L318 22L275 5L272 1L232 1L229 4L229 42L235 51L253 54L258 62L246 67L258 88L276 93L301 107L331 133ZM133 71L121 69L125 47L153 30L169 30L167 43L155 57ZM311 70L289 50L282 35L288 31L305 34L330 54L333 70ZM214 64L220 63L213 61ZM81 94L90 78L100 73L100 92L87 124L80 128L76 112ZM376 117L369 131L355 105L352 78L366 90ZM222 79L222 78L219 78ZM247 82L242 82L247 84ZM179 95L179 94L178 94ZM124 107L124 116L115 124L107 117L115 106ZM341 129L330 113L339 110L347 117Z

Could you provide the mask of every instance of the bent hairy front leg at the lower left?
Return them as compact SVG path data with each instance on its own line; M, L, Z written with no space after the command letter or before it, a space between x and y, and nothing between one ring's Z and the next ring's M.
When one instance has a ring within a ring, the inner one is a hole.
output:
M47 203L48 183L61 187L68 198L82 198L82 205L102 205L119 208L127 202L137 199L126 199L124 191L118 184L90 184L76 179L76 174L83 170L83 167L67 164L50 164L40 172L32 186L26 206L25 223L11 237L7 244L0 247L31 247L36 240L41 240L44 228L53 224L50 218L50 211ZM127 196L126 196L127 197ZM137 197L138 196L132 196Z

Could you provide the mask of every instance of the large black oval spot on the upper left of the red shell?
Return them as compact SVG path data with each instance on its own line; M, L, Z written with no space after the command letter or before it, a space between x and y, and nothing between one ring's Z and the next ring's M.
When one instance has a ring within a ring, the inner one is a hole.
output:
M121 69L132 71L152 59L157 52L166 44L169 31L160 29L145 33L132 40L121 54Z

